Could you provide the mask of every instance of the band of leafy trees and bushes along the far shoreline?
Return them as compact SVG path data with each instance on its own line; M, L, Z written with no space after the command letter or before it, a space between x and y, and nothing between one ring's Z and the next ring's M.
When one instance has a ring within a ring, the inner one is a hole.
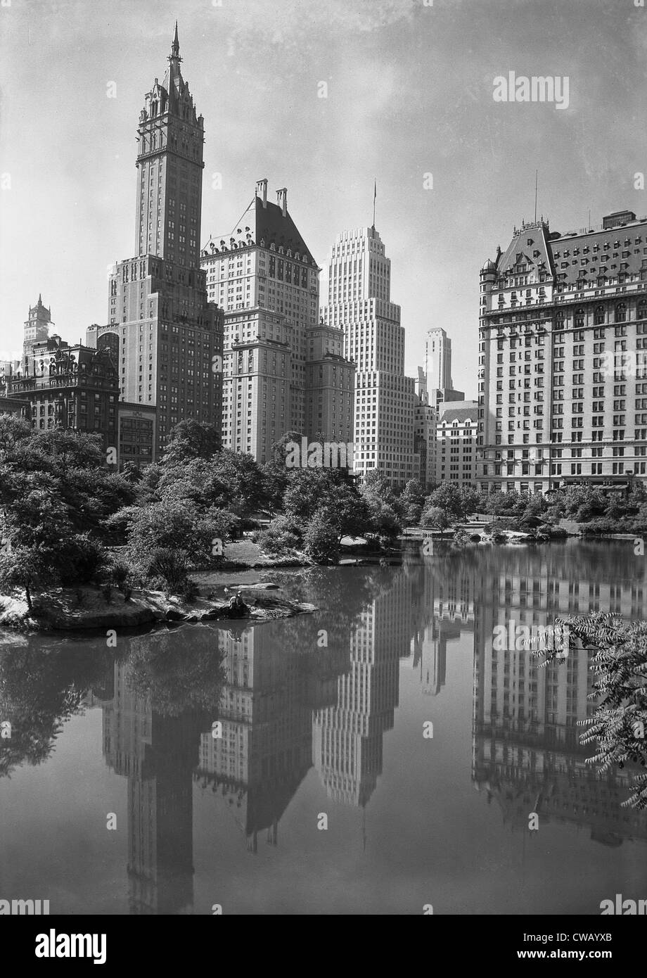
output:
M624 500L585 487L546 500L484 496L447 482L429 490L411 479L396 492L377 470L358 485L345 468L289 467L288 446L299 437L287 432L272 461L259 465L221 449L215 428L188 420L172 429L158 463L117 472L98 435L36 430L0 415L5 622L12 601L24 601L26 617L36 620L34 600L52 602L57 589L97 589L107 608L115 592L126 604L137 593L143 600L161 592L191 605L197 571L388 557L402 550L406 528L450 535L471 513L486 514L485 530L458 531L451 546L484 542L484 533L493 543L556 539L566 535L565 519L587 534L613 528L647 536L641 487Z

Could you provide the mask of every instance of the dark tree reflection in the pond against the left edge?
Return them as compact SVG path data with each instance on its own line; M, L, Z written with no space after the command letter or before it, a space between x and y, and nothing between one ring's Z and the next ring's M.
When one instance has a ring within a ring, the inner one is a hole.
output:
M0 739L0 777L24 764L41 764L51 754L63 724L81 712L90 686L111 668L108 649L54 645L0 646L0 719L12 725Z

